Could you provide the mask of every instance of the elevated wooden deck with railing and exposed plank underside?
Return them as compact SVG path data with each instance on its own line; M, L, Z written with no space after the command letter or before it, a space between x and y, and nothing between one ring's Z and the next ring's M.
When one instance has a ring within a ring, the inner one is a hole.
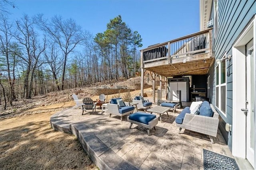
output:
M141 68L164 77L205 75L214 62L212 29L141 50Z

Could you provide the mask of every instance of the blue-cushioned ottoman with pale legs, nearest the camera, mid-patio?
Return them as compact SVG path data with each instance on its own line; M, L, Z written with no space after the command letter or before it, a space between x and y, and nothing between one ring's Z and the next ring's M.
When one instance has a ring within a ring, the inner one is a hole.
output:
M155 126L158 124L158 117L156 115L152 115L149 113L144 112L136 112L132 115L129 115L127 117L127 121L130 122L130 127L132 127L132 124L136 124L142 127L145 127L148 131L148 135L150 134L150 129L155 128Z

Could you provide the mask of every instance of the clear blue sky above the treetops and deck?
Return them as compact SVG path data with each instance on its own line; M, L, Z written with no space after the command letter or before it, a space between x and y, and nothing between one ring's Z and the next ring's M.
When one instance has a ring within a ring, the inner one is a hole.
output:
M142 37L143 47L186 36L200 30L199 0L14 0L10 19L38 13L51 18L73 18L94 36L106 30L110 19L123 22ZM142 49L141 48L141 49Z

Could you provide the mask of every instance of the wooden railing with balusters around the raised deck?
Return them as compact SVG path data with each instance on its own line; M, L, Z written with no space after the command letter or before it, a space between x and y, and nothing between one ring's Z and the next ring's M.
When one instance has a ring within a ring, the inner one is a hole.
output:
M163 60L168 60L169 63L172 63L173 59L190 57L192 55L203 53L209 53L211 57L211 31L212 29L204 30L202 32L197 32L142 49L142 61L144 64Z

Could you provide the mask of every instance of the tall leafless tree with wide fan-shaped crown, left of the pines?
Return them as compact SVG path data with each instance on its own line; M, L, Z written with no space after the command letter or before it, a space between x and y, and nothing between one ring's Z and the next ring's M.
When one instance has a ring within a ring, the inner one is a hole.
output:
M64 54L64 63L62 71L62 87L64 90L64 78L66 71L66 62L68 54L74 51L78 45L83 45L91 38L90 34L83 31L81 26L77 25L73 19L62 20L60 16L54 16L50 22L40 14L37 16L38 25L45 31L54 42L56 42Z

